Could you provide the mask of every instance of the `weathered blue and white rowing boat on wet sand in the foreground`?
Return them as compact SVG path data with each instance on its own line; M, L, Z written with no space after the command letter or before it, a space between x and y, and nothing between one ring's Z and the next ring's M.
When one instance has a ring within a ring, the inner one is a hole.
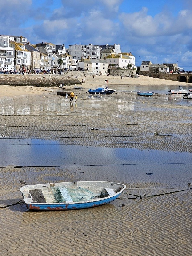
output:
M108 181L78 181L25 185L20 188L29 210L74 210L114 201L126 188Z

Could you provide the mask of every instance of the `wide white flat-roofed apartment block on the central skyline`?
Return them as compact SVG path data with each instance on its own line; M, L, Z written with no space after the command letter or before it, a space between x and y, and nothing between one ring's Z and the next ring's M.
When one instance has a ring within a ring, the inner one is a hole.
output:
M88 56L92 60L98 60L100 58L100 49L98 45L73 44L69 45L69 55L76 60L81 60L81 57L87 59Z

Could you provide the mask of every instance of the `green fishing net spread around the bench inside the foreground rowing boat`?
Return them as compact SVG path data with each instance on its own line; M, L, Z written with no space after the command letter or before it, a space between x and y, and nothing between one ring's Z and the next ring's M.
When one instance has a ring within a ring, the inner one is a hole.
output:
M49 188L49 197L53 203L89 201L103 197L103 193L94 193L87 188Z

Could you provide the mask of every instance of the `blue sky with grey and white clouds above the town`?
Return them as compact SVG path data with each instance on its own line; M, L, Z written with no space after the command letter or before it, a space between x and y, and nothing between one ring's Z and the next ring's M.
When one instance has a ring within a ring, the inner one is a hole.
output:
M0 34L32 44L120 44L136 66L192 71L192 0L1 0Z

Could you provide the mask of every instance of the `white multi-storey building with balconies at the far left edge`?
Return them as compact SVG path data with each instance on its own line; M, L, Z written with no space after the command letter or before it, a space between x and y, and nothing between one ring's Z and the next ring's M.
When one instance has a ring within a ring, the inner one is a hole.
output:
M0 36L0 71L14 70L15 48L10 47L9 36Z

